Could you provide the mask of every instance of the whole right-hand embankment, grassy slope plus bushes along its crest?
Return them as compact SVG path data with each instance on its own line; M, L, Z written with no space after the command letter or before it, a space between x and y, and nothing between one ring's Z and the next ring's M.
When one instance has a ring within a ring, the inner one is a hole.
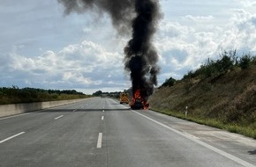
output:
M157 112L256 139L256 57L222 51L181 80L167 79L149 103Z

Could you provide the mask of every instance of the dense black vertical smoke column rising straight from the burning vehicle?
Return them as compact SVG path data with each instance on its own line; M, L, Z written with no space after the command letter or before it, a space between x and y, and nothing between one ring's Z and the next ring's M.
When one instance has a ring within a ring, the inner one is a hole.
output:
M135 2L136 18L132 20L132 40L124 48L124 68L131 72L132 91L140 91L146 99L153 93L157 84L156 65L158 55L152 44L157 20L160 18L158 1L137 0Z

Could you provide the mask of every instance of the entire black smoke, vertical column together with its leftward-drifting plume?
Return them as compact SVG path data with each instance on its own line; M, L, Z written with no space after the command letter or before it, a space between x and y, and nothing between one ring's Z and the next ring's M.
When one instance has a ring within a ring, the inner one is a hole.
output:
M153 93L157 84L158 54L152 44L158 20L161 18L158 0L57 0L72 11L84 13L107 12L119 34L131 31L132 39L124 47L124 69L131 74L132 91L140 91L141 98Z

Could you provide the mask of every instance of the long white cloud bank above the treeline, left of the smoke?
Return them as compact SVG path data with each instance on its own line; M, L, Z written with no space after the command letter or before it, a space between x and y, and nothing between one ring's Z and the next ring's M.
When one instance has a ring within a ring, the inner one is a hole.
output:
M122 55L110 53L104 47L91 41L82 41L64 47L60 52L45 53L26 57L12 51L4 69L19 75L16 77L22 84L42 84L49 87L69 85L73 89L94 88L95 85L122 87L127 82L124 79ZM6 79L2 73L0 78ZM3 83L0 83L3 84Z

